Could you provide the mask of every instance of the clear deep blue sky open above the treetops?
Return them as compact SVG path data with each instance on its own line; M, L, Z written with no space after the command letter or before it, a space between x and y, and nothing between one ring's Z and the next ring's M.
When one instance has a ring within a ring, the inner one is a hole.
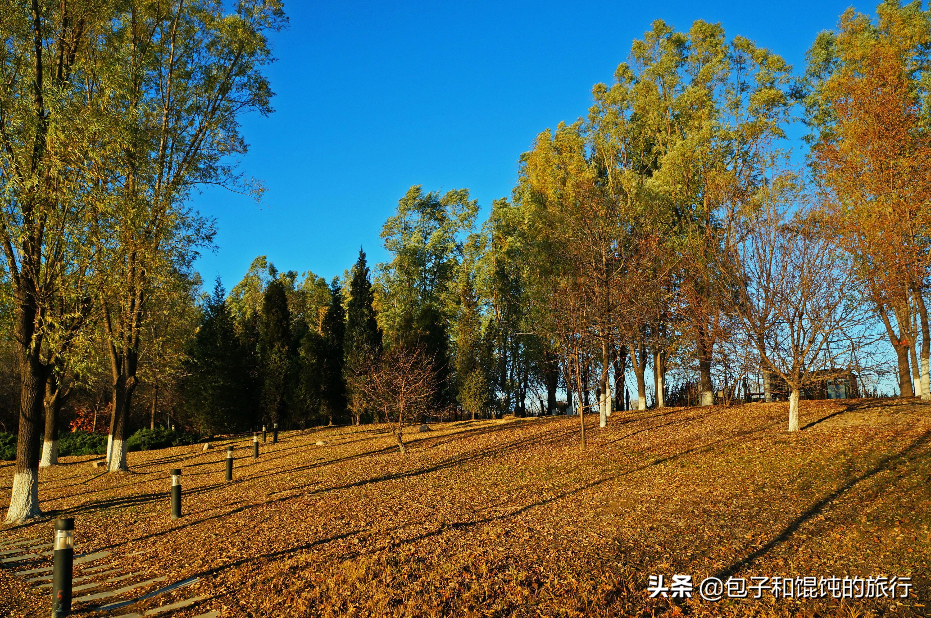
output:
M242 168L261 204L222 189L194 197L217 220L196 263L226 289L251 260L342 275L358 248L386 259L382 223L412 184L468 188L487 213L510 195L533 137L586 114L631 41L655 19L720 21L803 69L849 2L321 2L290 0L269 75L276 112L243 119ZM857 6L872 12L875 5Z

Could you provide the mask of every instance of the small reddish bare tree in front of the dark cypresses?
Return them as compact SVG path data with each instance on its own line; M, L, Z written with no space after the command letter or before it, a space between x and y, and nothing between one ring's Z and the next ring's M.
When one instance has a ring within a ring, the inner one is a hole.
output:
M422 345L395 345L379 364L349 377L352 387L385 415L391 433L404 449L404 421L428 410L437 387L434 359Z

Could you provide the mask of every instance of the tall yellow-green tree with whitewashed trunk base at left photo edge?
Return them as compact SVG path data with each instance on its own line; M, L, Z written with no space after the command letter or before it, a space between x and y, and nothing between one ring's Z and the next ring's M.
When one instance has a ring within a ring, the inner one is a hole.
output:
M20 371L19 438L8 523L41 515L39 425L49 372L43 359L55 307L92 295L75 288L74 256L96 245L88 226L110 204L101 170L114 116L101 112L101 74L114 68L107 50L113 26L106 2L0 2L0 245L12 291L13 335ZM88 32L95 33L89 36ZM62 292L74 290L74 299ZM62 302L62 301L66 302Z

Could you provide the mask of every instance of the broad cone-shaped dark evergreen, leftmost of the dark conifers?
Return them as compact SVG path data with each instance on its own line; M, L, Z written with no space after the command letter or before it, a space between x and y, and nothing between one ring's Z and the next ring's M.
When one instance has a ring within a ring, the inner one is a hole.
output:
M187 350L185 406L202 431L217 434L249 424L250 380L236 322L217 277Z

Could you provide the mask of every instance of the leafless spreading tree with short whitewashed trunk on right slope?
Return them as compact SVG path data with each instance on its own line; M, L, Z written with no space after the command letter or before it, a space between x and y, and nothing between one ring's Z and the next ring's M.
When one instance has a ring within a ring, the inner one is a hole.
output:
M749 359L786 383L789 431L797 431L803 390L870 357L876 337L856 265L830 219L787 178L762 192L730 249L735 330L753 348Z

